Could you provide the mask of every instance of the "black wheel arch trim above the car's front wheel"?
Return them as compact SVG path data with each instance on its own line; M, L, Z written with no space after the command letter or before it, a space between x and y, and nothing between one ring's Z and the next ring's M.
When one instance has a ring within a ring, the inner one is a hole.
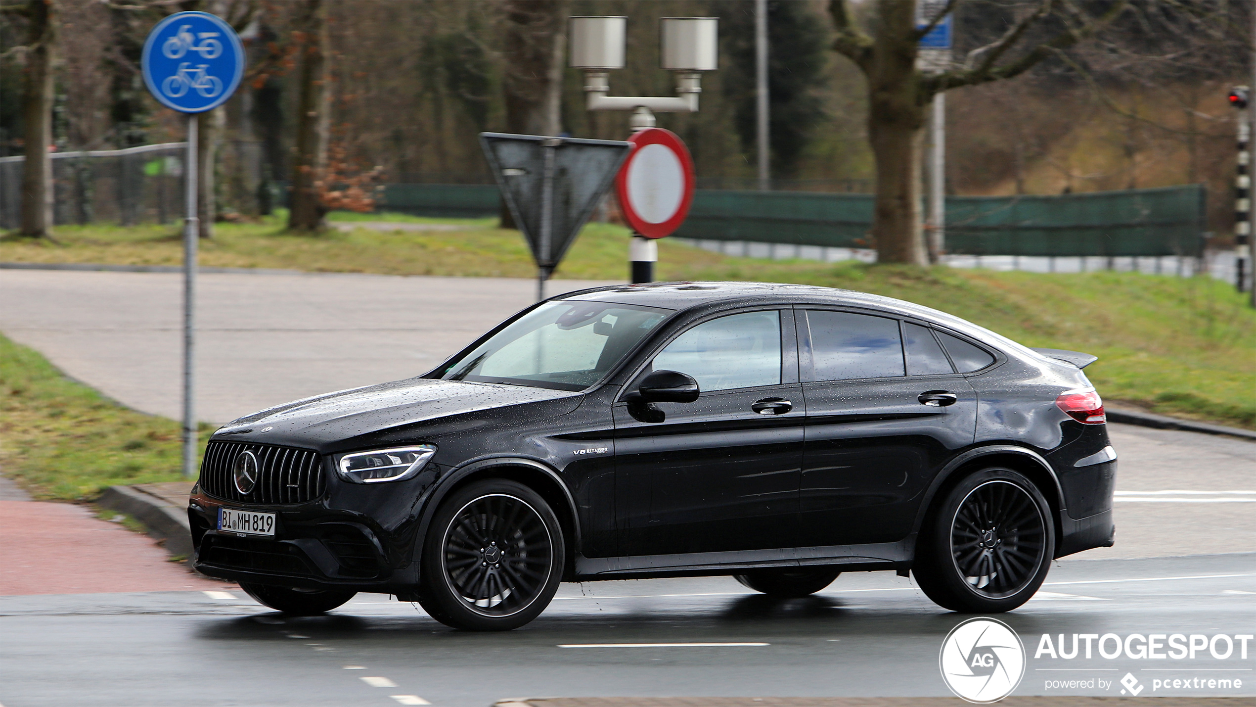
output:
M575 564L575 556L580 548L580 521L575 512L575 499L571 490L563 482L550 466L526 457L490 457L477 460L453 468L432 492L418 526L418 541L416 558L423 551L423 542L427 541L427 531L432 525L432 517L446 496L453 491L476 481L485 478L509 478L528 486L539 494L558 516L559 526L563 529L563 545L565 558L563 560L563 574L570 576Z

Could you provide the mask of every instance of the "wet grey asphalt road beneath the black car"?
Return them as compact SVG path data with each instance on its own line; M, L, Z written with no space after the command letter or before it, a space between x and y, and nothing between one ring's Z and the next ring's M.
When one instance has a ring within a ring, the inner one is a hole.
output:
M728 578L563 585L540 619L500 634L453 632L373 594L300 619L240 591L5 596L0 702L482 707L541 696L942 696L938 649L963 618L887 573L843 575L794 600L751 594ZM1042 633L1251 634L1256 553L1064 560L1037 598L1004 619L1029 652L1017 694L1117 696L1127 673L1144 696L1153 679L1173 677L1245 684L1154 694L1256 694L1253 642L1246 659L1237 644L1223 661L1202 650L1194 661L1034 658ZM564 648L608 643L766 645ZM1113 687L1045 687L1074 678Z

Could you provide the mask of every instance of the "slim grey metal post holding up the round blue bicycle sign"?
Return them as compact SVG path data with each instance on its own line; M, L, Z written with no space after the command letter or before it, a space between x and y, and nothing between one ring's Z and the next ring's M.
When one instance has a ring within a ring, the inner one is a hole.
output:
M196 247L201 220L196 216L196 143L198 141L197 113L187 114L187 165L185 165L183 220L183 476L196 475Z

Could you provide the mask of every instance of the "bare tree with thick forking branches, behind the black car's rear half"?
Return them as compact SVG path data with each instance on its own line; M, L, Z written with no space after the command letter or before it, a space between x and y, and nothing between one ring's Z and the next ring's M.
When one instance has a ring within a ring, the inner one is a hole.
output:
M829 4L838 33L833 49L854 62L868 82L868 137L877 163L872 236L879 262L928 264L919 170L924 117L933 97L950 88L1017 77L1090 38L1125 9L1124 0L1039 0L1021 8L1002 36L970 51L961 67L921 72L916 67L921 38L956 3L948 0L922 28L916 26L916 0L873 4L867 26L860 26L847 0Z

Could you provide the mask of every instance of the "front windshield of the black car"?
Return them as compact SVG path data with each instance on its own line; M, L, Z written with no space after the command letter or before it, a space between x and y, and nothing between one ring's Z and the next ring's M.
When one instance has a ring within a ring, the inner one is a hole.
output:
M441 378L580 391L597 383L672 310L549 301L511 321Z

